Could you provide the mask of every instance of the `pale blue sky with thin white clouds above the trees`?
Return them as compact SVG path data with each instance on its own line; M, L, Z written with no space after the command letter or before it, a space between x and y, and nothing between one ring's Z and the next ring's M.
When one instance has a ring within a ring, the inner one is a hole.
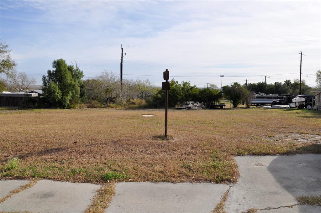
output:
M121 45L123 78L156 86L165 69L198 87L293 81L300 51L308 85L321 67L319 1L1 0L0 8L1 41L36 84L58 58L76 60L86 78L119 74Z

